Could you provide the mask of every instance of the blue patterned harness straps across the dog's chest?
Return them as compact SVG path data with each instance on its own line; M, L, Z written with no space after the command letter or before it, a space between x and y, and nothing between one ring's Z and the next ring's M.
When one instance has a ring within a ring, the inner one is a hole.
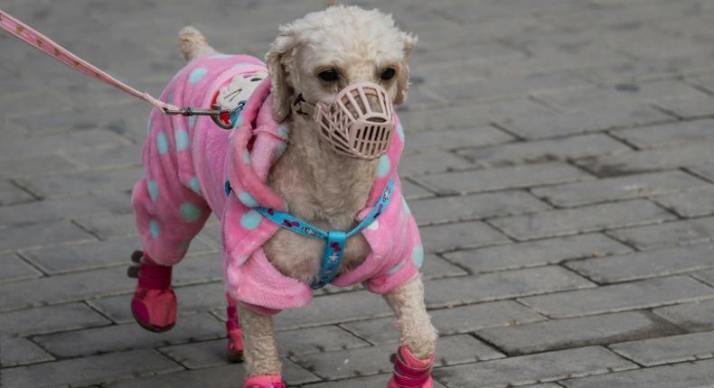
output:
M390 179L389 183L387 183L387 186L384 188L384 191L382 191L380 199L376 204L374 204L374 208L371 208L367 217L364 217L362 222L349 232L343 232L340 230L325 232L319 227L312 226L305 221L290 216L287 212L279 211L274 208L257 207L254 209L263 215L263 217L268 218L278 226L291 230L298 235L315 238L317 240L324 240L324 254L323 261L320 264L320 273L318 274L315 282L310 284L310 287L313 290L317 290L333 281L334 276L337 274L337 270L340 268L340 263L343 261L344 245L347 242L347 239L360 233L362 229L370 226L370 224L374 222L377 217L380 217L382 211L390 204L393 189L394 179ZM230 183L228 181L226 181L226 194L230 194Z

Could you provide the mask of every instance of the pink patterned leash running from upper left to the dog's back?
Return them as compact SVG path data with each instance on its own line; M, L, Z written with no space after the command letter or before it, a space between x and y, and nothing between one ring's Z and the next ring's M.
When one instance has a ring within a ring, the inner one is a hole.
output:
M44 52L55 60L61 61L70 68L75 69L92 79L99 79L100 81L103 81L114 88L118 88L131 96L142 99L161 109L166 115L211 115L213 121L216 121L220 120L221 113L230 113L227 109L211 110L174 106L160 101L146 92L140 92L135 88L131 88L127 84L108 75L106 72L100 70L88 61L82 60L77 55L71 53L71 51L63 48L56 42L53 42L50 38L35 31L29 25L20 22L13 16L5 13L3 10L0 10L0 27L2 27L5 31L10 32L10 34L14 35L14 37L33 46L39 51Z

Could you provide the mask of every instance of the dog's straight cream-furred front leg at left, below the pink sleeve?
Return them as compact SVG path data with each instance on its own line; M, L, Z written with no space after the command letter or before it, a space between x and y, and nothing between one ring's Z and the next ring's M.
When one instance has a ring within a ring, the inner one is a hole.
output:
M246 360L246 386L282 386L273 319L239 304ZM253 384L253 385L251 385ZM271 385L273 384L273 385Z

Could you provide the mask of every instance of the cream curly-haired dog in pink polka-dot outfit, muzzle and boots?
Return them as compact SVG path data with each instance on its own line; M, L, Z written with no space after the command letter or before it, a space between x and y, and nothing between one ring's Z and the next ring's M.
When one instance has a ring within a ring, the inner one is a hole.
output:
M389 387L432 387L437 331L396 172L404 132L393 112L409 92L417 39L390 15L343 5L281 26L265 63L216 52L193 27L179 35L189 63L161 99L221 106L221 126L232 129L152 112L146 175L132 194L144 243L132 257L136 321L174 326L172 267L212 212L221 219L229 355L245 360L245 387L285 386L273 314L305 306L328 283L359 282L398 319Z

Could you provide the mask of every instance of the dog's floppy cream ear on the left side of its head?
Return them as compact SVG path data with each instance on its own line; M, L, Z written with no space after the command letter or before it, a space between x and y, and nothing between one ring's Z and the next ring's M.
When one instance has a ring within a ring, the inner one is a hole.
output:
M266 64L270 73L270 91L273 95L273 117L279 123L290 115L290 98L293 95L293 86L289 84L289 74L286 61L292 62L296 39L292 32L283 30L277 35L270 51L266 54Z

